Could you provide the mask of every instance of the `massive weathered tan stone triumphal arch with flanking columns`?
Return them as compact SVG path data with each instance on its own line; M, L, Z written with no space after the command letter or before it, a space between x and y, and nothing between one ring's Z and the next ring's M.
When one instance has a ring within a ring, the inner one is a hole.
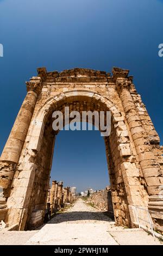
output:
M1 220L24 230L39 211L43 222L57 136L52 113L69 106L111 112L111 133L104 140L116 223L135 227L134 209L141 206L162 230L162 148L129 70L37 71L26 82L27 96L1 155Z

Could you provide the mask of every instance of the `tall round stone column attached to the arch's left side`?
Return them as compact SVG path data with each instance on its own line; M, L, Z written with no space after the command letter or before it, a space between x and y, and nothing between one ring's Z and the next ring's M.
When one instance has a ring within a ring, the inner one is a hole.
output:
M8 194L7 189L10 187L10 182L26 139L37 95L42 88L41 77L32 77L30 82L26 82L26 84L27 95L17 114L17 118L0 158L0 187L3 188L4 196Z

